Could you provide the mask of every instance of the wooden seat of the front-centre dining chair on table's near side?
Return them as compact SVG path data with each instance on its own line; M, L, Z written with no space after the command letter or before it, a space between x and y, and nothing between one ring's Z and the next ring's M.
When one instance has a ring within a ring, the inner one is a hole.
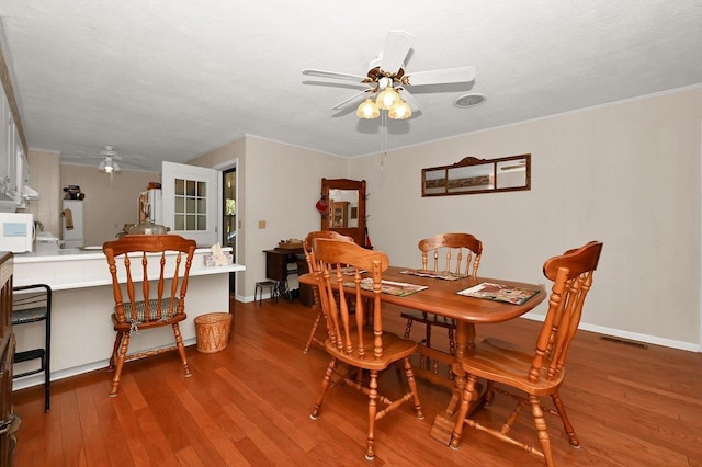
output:
M363 330L364 356L361 357L359 348L355 345L359 341L358 331L351 331L350 335L351 341L354 343L351 355L343 352L343 350L340 351L330 339L325 341L325 348L332 357L363 369L385 369L394 362L403 360L417 351L417 342L403 339L392 332L383 332L383 357L376 358L373 355L373 332Z

